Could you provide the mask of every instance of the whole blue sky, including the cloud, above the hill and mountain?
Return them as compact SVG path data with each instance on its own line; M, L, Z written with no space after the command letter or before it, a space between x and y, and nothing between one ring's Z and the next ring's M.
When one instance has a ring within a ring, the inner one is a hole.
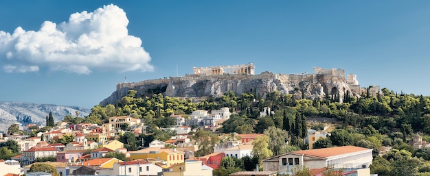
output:
M361 86L430 95L429 9L430 1L1 1L0 101L91 108L124 77L249 62L256 73L343 68Z

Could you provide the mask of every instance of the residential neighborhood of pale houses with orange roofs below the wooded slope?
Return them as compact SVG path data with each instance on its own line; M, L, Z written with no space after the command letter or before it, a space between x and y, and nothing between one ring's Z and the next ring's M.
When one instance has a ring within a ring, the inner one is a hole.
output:
M161 128L161 130L176 131L174 136L164 141L152 140L148 142L147 147L137 150L128 150L124 147L126 144L120 141L120 136L126 133L135 134L135 136L145 135L147 131L143 127L146 127L146 124L140 119L131 116L113 116L109 118L109 123L102 125L60 122L49 131L36 134L34 137L3 136L1 139L3 141L16 141L22 154L13 156L12 160L5 161L0 166L7 168L3 171L10 171L11 174L17 175L26 174L36 163L54 166L60 176L214 175L214 171L220 168L223 158L236 158L234 160L244 157L253 158L256 152L253 151L253 141L264 136L264 134L218 134L223 141L210 149L212 153L195 155L201 145L194 134L197 134L198 130L218 129L223 125L218 121L227 121L230 116L229 108L221 108L211 113L207 110L196 110L188 118L172 114L174 126ZM305 142L308 142L309 146L312 146L317 139L327 136L324 131L307 130ZM66 144L58 142L65 137L70 141ZM309 148L310 150L292 151L264 159L261 164L248 166L251 171L232 173L232 175L291 174L297 166L307 166L311 169L332 166L332 168L348 168L360 175L363 173L370 175L372 149L352 146ZM52 159L41 162L42 158Z

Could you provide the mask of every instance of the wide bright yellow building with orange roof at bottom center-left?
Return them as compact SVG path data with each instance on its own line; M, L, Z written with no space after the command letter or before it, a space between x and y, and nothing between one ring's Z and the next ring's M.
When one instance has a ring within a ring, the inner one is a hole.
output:
M161 149L160 147L148 147L139 151L130 153L130 160L156 158L166 162L166 166L179 164L184 162L184 154L182 151L173 149Z

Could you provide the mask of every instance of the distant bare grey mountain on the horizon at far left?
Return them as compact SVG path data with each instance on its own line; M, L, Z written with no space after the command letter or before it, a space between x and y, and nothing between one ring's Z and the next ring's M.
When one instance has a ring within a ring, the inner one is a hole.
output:
M7 131L8 127L14 123L27 125L29 123L38 123L45 125L46 116L52 112L54 121L63 121L64 116L88 116L91 112L89 108L82 108L69 105L49 105L37 103L20 103L20 102L1 102L0 101L0 131Z

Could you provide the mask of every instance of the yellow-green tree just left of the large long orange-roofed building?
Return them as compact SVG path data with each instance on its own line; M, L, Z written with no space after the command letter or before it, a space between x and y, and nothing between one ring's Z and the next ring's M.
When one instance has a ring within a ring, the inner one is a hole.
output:
M269 149L269 136L258 136L255 140L252 141L252 153L258 157L259 162L269 158L273 155L273 152Z

